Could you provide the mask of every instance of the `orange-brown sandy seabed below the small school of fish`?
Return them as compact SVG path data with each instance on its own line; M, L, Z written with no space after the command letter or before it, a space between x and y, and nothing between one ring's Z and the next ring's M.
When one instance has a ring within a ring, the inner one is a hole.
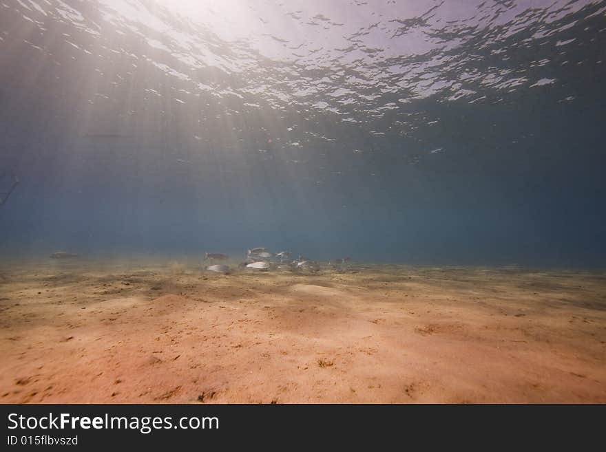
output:
M0 268L0 402L606 402L606 272Z

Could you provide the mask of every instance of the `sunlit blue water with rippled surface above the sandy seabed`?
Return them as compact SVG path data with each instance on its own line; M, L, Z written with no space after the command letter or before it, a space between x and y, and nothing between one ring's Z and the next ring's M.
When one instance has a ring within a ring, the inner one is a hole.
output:
M174 3L0 1L2 255L606 263L606 1Z

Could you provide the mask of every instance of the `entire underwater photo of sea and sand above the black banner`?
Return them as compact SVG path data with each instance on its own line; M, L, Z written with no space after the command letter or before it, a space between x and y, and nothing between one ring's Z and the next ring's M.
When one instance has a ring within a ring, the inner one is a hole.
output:
M0 0L0 402L606 402L605 80L604 0Z

